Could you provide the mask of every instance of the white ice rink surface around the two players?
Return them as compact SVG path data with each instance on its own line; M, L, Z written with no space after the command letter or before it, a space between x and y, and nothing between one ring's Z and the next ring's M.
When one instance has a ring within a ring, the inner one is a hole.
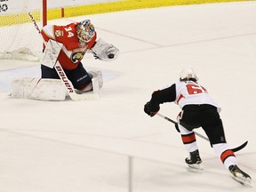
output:
M37 63L0 60L0 192L255 191L232 180L209 143L197 139L203 173L186 170L188 156L173 124L148 117L153 91L195 68L220 104L228 143L240 167L256 178L256 2L200 4L87 17L98 36L120 48L118 60L88 54L84 66L101 69L100 100L47 102L8 98L10 80L40 76ZM180 108L161 106L175 119ZM198 130L197 132L202 132ZM131 162L130 162L131 163Z

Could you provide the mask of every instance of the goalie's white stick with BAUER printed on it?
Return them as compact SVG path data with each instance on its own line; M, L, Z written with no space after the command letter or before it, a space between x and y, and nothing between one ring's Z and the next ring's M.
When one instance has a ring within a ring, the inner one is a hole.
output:
M28 12L28 15L29 15L30 19L32 20L37 32L42 37L44 45L46 46L47 43L44 41L44 38L41 34L41 30L38 27L38 25L36 24L36 20L34 19L31 12ZM53 68L55 68L55 70L57 71L57 74L60 76L60 80L61 80L62 84L64 84L64 86L66 87L66 89L68 91L68 95L71 98L71 100L96 100L99 98L99 95L97 93L77 94L73 84L71 84L71 82L68 80L68 76L66 76L66 73L63 70L63 68L61 67L60 62L58 60L55 62Z

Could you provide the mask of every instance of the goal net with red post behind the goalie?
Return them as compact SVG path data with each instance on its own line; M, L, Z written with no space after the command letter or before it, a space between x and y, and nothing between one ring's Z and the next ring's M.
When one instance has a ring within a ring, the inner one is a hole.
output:
M47 23L47 0L0 1L0 60L41 58L42 38L38 36L28 12L42 28Z

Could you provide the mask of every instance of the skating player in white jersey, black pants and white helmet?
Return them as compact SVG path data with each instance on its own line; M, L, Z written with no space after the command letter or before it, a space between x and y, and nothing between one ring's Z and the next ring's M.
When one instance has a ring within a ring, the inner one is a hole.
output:
M189 153L189 157L185 159L188 166L200 169L202 164L195 132L193 132L195 128L202 127L214 152L220 157L228 171L237 181L250 184L251 177L238 167L236 156L226 142L219 115L220 108L206 89L197 83L197 80L193 68L183 69L180 73L180 82L153 92L151 100L144 106L145 113L148 116L155 116L160 109L160 104L175 102L182 109L178 116L178 126L181 140Z

